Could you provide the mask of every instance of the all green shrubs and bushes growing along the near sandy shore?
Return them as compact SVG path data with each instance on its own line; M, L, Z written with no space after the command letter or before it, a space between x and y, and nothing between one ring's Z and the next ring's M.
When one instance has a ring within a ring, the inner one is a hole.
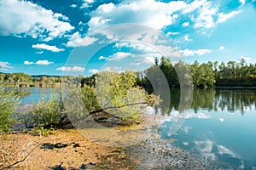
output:
M38 134L47 133L44 129L61 127L72 121L81 122L88 116L96 121L112 118L121 124L134 124L143 121L142 113L147 106L159 105L161 101L159 96L148 94L136 85L133 71L103 71L95 77L94 83L68 89L72 91L64 93L65 96L61 96L60 90L49 98L43 96L41 101L28 107L20 122ZM13 93L13 90L1 91L1 131L8 131L14 121L12 116L18 98ZM76 99L82 99L83 104L72 105ZM65 102L67 105L64 107Z

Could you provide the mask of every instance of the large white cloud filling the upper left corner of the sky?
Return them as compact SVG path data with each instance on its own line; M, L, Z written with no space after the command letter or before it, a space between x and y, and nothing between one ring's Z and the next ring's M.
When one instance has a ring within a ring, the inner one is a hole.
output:
M9 36L28 35L49 41L63 36L73 26L62 14L55 14L30 1L9 0L1 1L0 5L0 35Z

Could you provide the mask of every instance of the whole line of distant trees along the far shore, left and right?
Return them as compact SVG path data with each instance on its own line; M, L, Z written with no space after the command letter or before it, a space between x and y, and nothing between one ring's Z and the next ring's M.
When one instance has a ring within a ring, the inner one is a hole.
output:
M161 73L160 73L161 71ZM256 64L247 64L245 59L240 62L229 61L227 63L218 61L200 64L195 61L193 64L185 64L179 61L173 64L166 57L154 59L154 65L145 71L136 72L137 85L146 88L148 92L153 92L152 80L159 82L161 85L160 74L166 77L166 82L170 88L179 88L180 79L177 71L182 71L183 86L193 83L194 88L212 88L217 87L256 87ZM189 74L193 78L189 79ZM96 75L90 77L68 77L76 82L94 85ZM151 80L151 81L150 81ZM25 73L0 73L0 82L6 86L20 87L42 87L42 88L58 88L60 87L62 77L60 76L29 76ZM187 84L186 84L187 83Z

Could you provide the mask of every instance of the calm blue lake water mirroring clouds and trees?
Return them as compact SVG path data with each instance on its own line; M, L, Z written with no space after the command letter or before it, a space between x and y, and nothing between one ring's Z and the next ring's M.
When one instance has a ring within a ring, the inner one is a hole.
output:
M25 90L30 95L21 105L38 102L52 91ZM223 169L256 169L256 89L195 90L191 109L183 113L177 111L179 90L172 89L171 94L169 116L159 129L162 139L175 140L172 144Z

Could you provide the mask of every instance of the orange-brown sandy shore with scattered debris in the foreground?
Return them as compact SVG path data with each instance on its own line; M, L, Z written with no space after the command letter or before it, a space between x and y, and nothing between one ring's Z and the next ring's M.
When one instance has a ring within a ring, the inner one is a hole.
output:
M85 139L76 129L55 130L47 137L4 134L0 169L217 169L159 139L157 134L129 147L109 147Z

